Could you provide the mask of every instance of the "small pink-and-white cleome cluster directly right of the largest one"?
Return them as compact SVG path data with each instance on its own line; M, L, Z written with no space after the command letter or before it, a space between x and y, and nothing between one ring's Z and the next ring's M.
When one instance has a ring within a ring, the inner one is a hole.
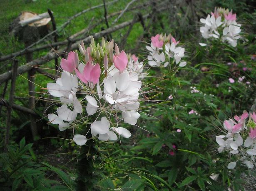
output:
M185 48L177 46L179 41L176 41L171 34L157 34L151 37L150 46L146 46L149 51L147 57L150 66L167 67L167 65L177 65L184 67L185 61L181 59L184 57Z

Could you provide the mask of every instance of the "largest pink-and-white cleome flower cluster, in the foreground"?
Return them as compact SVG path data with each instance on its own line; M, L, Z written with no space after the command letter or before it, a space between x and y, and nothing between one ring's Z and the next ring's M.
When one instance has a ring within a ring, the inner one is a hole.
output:
M79 51L83 62L77 51L71 51L61 60L61 77L47 84L48 92L61 104L55 113L48 114L50 123L58 125L60 131L82 129L85 135L73 136L77 145L87 142L89 131L92 138L101 141L129 138L131 133L119 124L135 125L140 117L139 94L146 75L142 73L143 63L104 38L101 46L92 38L87 48L82 41Z

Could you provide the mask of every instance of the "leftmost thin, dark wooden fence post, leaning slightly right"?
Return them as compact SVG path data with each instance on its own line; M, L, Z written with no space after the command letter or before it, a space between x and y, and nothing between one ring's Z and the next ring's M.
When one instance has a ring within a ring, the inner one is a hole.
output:
M13 103L13 97L15 92L17 68L18 68L18 61L14 60L12 65L12 82L11 82L11 89L10 89L9 104L7 106L7 114L6 114L5 151L7 151L7 145L9 144L9 140L10 140L11 112L12 112L12 103Z

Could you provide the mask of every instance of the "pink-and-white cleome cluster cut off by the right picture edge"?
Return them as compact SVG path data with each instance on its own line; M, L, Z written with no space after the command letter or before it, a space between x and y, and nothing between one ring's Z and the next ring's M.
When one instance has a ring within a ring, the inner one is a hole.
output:
M233 162L229 162L228 168L234 169L238 161L252 169L256 165L256 114L244 112L241 116L225 120L223 123L224 134L216 136L219 144L218 151L228 151Z

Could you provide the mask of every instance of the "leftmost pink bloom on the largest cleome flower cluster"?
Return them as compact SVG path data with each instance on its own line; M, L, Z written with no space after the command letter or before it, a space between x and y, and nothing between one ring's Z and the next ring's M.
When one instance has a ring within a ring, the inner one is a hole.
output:
M68 56L67 60L62 58L60 61L60 66L63 70L72 73L74 69L78 65L78 55L74 51L71 51Z

